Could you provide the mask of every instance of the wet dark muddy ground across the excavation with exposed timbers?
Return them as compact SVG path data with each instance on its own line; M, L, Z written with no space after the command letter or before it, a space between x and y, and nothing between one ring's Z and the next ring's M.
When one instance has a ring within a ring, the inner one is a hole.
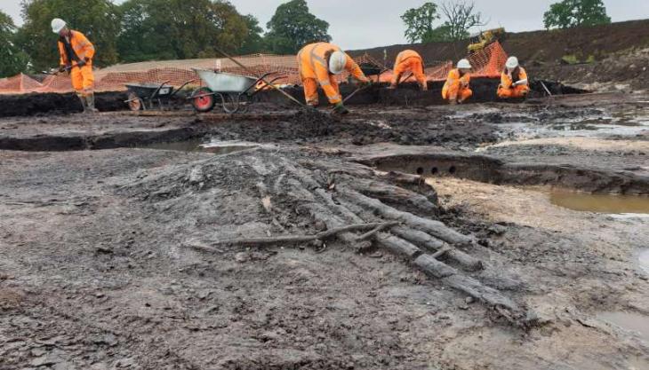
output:
M600 316L649 317L647 218L547 195L648 194L647 98L5 118L0 368L649 368L647 339ZM186 139L263 146L141 148ZM386 207L452 248L441 265L393 229L222 243Z

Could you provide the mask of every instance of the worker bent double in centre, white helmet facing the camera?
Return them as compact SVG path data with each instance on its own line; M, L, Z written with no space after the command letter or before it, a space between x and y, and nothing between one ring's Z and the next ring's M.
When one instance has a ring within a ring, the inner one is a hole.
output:
M332 43L311 43L303 47L298 52L298 65L307 104L318 105L317 86L319 84L329 98L329 102L333 104L333 111L338 114L348 114L349 110L342 104L336 75L347 71L360 83L371 83L354 59Z

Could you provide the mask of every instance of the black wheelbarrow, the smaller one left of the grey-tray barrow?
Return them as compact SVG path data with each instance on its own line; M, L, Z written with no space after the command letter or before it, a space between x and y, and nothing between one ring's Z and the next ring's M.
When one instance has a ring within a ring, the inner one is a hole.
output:
M164 105L169 105L171 98L181 91L182 88L187 86L189 83L195 82L195 80L189 80L186 83L180 85L178 89L175 89L172 85L168 85L170 81L165 81L164 83L129 83L126 85L128 89L128 100L124 100L124 103L128 104L132 111L139 110L148 110L154 109L157 105L160 110L164 110Z

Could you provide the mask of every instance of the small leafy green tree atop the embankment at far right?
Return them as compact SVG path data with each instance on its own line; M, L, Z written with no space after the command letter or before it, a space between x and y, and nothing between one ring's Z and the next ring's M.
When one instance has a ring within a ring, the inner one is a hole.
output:
M602 0L564 0L543 14L545 28L573 28L611 23Z

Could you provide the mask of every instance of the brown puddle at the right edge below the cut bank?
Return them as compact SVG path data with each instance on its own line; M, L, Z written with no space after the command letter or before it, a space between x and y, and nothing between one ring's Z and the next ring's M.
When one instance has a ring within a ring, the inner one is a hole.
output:
M576 193L552 189L550 202L565 209L610 214L649 214L649 197Z

